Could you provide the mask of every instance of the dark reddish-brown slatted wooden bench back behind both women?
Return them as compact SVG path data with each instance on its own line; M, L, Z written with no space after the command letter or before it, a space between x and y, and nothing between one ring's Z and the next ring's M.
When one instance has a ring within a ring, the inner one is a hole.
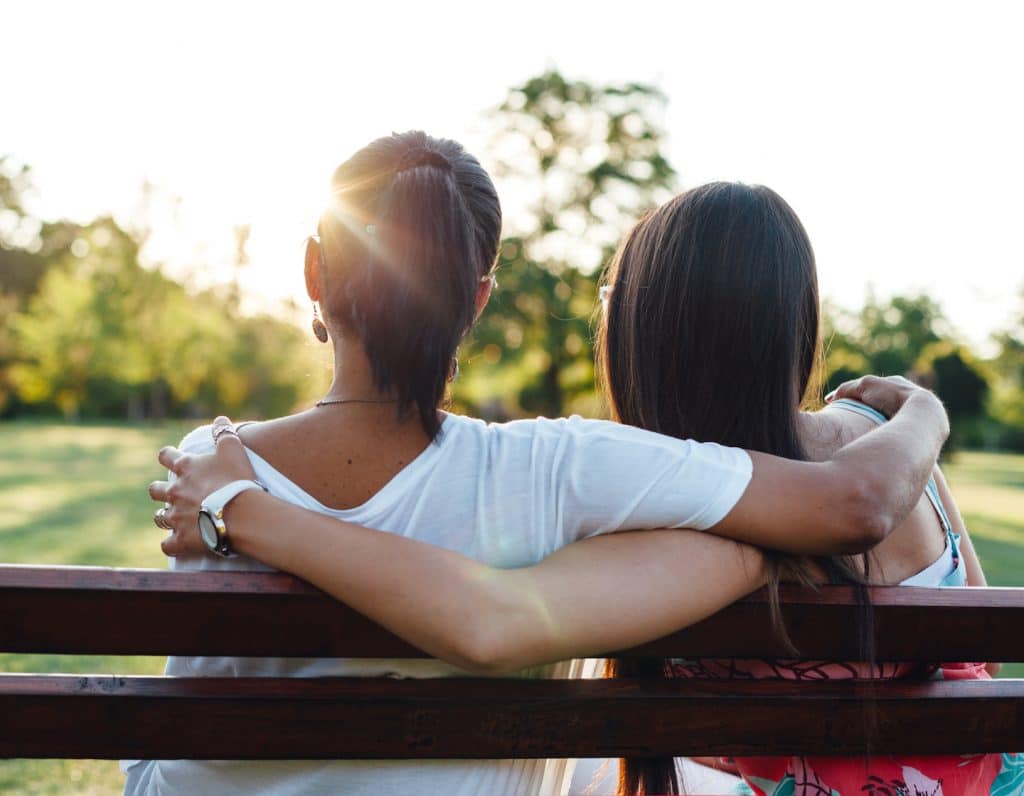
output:
M876 588L882 661L1024 661L1024 589ZM386 595L381 595L386 599ZM787 590L793 641L852 660L844 588ZM621 656L786 657L763 595ZM0 651L422 658L286 575L0 567ZM0 675L0 756L515 758L1024 747L1024 680L169 678ZM176 731L168 728L177 727ZM187 728L187 729L183 729Z

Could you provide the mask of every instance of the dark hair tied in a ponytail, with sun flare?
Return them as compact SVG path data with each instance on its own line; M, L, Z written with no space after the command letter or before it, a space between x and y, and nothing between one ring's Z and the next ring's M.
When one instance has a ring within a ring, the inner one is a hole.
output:
M359 150L332 191L318 225L325 321L359 338L374 385L433 438L452 358L498 255L498 193L459 143L420 131Z

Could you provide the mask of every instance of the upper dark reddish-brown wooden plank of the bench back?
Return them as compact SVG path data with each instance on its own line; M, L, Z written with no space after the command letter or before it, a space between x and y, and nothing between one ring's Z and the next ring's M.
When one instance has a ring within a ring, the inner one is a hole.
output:
M850 589L786 588L783 598L802 657L857 657ZM1024 661L1024 589L879 587L871 599L880 661ZM288 575L18 565L0 567L0 652L424 657ZM618 654L787 657L761 593Z

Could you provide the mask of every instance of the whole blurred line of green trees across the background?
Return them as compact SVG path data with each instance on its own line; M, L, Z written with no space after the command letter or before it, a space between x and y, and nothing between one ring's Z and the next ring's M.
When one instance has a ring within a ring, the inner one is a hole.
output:
M548 71L488 114L484 160L506 198L507 237L500 287L460 353L457 409L490 419L604 413L597 285L629 227L675 191L665 101L653 86ZM217 287L143 262L152 192L143 184L127 226L37 219L32 172L0 157L0 418L266 417L326 388L324 349L287 320L293 306L244 309L248 224L225 231L230 277ZM945 402L951 445L1024 450L1024 292L986 355L924 294L869 295L859 310L825 302L822 326L827 388L863 373L909 375Z

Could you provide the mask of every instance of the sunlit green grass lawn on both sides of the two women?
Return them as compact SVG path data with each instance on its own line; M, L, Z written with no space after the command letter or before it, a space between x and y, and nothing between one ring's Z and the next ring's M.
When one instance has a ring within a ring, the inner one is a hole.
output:
M164 567L151 521L156 451L184 424L0 424L0 561ZM1024 585L1024 456L966 453L945 468L992 585ZM0 655L3 671L159 673L157 658ZM1024 676L1024 666L1007 667ZM102 760L0 761L0 793L118 793Z

